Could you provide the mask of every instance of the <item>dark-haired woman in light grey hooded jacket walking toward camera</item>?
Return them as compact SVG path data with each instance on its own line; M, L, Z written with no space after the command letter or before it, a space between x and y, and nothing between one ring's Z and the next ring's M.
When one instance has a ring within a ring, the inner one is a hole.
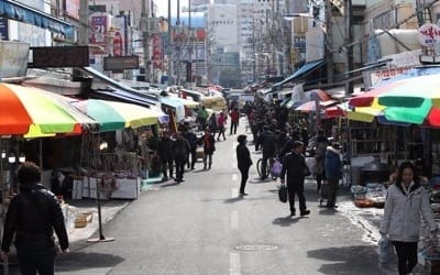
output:
M409 274L417 265L420 216L435 234L437 226L428 191L420 185L413 163L404 162L398 167L396 182L388 188L380 228L381 235L387 235L396 250L399 275Z

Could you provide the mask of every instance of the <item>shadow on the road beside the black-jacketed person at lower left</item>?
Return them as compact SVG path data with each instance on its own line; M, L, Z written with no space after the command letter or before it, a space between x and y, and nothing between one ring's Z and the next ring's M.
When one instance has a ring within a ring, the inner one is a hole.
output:
M56 272L113 267L124 261L113 254L72 252L56 258Z

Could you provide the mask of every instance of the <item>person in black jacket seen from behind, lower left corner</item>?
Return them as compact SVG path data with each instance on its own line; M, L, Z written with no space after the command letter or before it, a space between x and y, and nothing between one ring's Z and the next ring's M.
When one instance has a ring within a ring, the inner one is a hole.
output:
M42 173L32 162L19 167L20 194L12 198L8 208L1 243L1 257L6 262L12 238L21 274L52 275L55 270L56 246L54 230L61 253L68 252L68 237L58 199L42 184Z

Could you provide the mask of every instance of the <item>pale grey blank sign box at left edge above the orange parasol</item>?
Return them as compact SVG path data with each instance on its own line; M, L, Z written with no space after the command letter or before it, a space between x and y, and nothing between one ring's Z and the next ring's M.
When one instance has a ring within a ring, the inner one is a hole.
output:
M0 41L0 77L25 76L28 55L28 43Z

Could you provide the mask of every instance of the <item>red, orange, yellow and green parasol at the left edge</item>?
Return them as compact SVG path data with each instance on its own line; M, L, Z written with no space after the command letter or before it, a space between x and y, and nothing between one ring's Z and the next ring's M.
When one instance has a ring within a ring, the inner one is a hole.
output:
M86 116L70 113L54 95L34 87L0 84L0 135L81 133L82 128L95 123Z

